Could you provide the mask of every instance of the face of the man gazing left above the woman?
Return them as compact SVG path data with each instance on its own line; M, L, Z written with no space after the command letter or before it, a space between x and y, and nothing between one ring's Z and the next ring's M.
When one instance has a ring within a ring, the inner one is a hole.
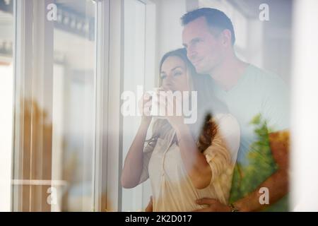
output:
M184 26L182 41L197 73L210 74L223 59L220 35L213 34L203 16Z

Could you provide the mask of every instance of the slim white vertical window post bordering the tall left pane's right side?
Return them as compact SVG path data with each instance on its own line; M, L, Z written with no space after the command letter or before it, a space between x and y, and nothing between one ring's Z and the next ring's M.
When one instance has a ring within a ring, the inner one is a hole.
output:
M105 211L107 206L107 150L109 108L109 66L110 66L110 1L97 1L96 37L96 79L95 79L95 167L93 170L94 210ZM105 114L106 113L106 114Z

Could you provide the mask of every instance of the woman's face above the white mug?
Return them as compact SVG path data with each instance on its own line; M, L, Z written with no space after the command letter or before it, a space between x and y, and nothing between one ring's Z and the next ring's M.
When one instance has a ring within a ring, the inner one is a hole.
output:
M189 91L187 65L179 57L167 57L161 66L160 78L163 89L175 91Z

